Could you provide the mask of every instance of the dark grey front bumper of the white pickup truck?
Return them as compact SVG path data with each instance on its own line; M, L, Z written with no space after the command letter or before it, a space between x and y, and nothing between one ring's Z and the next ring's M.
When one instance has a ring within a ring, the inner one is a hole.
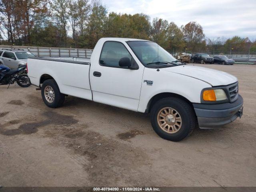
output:
M233 103L193 104L201 129L224 126L242 116L243 98L239 95Z

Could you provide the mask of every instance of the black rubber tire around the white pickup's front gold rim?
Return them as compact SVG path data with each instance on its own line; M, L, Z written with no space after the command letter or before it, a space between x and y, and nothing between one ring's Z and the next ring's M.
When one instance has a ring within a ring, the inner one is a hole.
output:
M163 108L173 108L182 120L181 126L177 132L168 133L158 124L158 113ZM170 141L180 141L189 136L195 128L196 116L192 107L184 100L176 97L163 98L157 101L151 110L151 124L154 131L162 138Z

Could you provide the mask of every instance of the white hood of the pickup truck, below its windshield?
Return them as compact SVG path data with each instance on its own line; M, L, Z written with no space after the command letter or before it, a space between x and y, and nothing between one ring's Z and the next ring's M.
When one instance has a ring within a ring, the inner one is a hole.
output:
M192 78L196 78L204 82L207 82L212 86L228 85L237 82L237 78L231 74L228 74L223 71L198 66L181 65L175 67L162 68L160 70L190 76Z

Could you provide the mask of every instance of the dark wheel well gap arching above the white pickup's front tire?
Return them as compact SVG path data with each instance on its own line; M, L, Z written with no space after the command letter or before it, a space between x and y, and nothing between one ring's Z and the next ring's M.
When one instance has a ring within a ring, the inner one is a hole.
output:
M175 94L175 93L159 93L157 95L155 95L154 97L152 97L150 99L150 101L148 102L148 106L146 109L146 112L149 113L150 110L152 109L152 106L160 99L166 98L166 97L176 97L176 98L181 98L182 100L186 101L194 110L193 104L184 96L181 96L179 94Z

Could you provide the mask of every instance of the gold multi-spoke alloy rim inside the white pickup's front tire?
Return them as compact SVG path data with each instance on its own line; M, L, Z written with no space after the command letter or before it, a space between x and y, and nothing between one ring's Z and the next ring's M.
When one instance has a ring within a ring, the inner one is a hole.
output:
M180 114L171 107L165 107L159 110L157 122L160 128L167 133L178 132L182 124Z

